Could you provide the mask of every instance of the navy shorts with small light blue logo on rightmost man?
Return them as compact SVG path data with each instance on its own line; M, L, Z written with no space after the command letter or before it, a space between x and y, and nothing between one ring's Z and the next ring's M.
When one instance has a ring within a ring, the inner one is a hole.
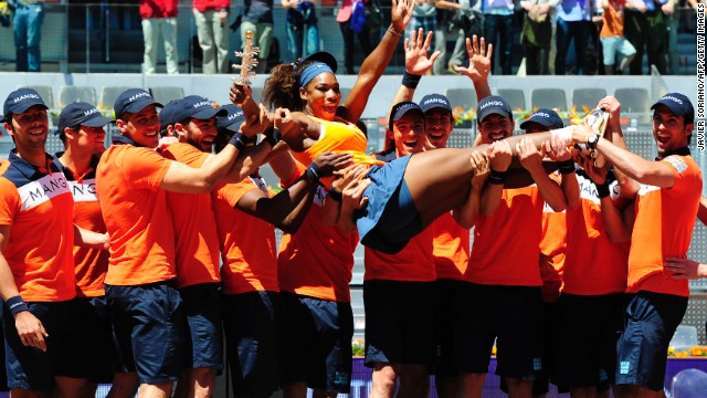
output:
M639 292L626 305L619 337L616 385L663 389L667 347L687 311L687 297Z

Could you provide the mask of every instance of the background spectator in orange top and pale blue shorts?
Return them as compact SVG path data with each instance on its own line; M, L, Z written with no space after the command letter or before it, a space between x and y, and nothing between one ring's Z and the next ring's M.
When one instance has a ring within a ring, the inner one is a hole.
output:
M623 36L623 9L625 4L625 0L601 0L601 8L604 9L604 23L599 36L604 52L604 69L608 75L614 74L616 53L623 56L616 71L619 74L623 74L636 54L636 49Z

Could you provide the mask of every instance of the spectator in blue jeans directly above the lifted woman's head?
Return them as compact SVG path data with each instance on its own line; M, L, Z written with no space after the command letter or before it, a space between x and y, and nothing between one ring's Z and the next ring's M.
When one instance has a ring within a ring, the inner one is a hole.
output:
M287 9L287 49L293 61L319 51L315 3L316 0L282 0L283 7Z

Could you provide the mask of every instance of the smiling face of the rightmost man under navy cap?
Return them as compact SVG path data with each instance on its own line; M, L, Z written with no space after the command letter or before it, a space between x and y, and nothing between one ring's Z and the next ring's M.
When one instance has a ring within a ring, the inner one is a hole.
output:
M694 127L692 123L685 124L685 116L675 115L667 106L656 106L653 112L653 138L658 147L658 156L686 147Z

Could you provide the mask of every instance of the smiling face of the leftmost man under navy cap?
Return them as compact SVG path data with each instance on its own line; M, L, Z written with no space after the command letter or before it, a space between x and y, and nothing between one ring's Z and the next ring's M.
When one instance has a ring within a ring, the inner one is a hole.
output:
M21 114L13 114L4 128L14 139L19 148L42 149L49 136L49 118L46 109L41 105L34 105Z

